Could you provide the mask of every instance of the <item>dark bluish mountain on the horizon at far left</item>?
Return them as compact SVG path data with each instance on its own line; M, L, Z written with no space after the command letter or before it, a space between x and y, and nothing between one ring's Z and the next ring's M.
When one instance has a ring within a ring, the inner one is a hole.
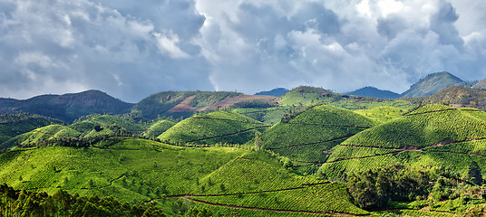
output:
M131 103L114 99L100 90L86 90L63 95L42 95L31 99L2 99L0 112L3 114L28 112L65 122L93 113L122 114L130 111Z

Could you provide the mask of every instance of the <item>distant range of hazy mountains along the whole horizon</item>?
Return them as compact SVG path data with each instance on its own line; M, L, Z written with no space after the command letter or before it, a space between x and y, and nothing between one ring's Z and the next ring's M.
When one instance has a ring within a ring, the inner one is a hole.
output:
M143 118L153 119L157 117L188 118L196 112L215 109L231 108L242 102L248 105L292 105L292 103L309 104L312 102L333 99L341 101L349 96L362 96L355 98L355 101L373 102L378 99L405 98L406 101L415 104L420 102L448 102L450 104L461 104L474 106L486 104L482 99L482 91L486 80L463 81L449 72L437 72L429 74L412 85L410 90L397 94L389 90L378 90L374 87L365 87L346 94L333 93L330 90L319 88L296 88L286 90L277 88L269 91L258 92L255 95L245 95L238 92L228 91L165 91L152 94L138 103L127 103L115 99L100 90L86 90L80 93L69 93L63 95L41 95L31 99L0 99L0 114L31 113L44 117L56 118L71 123L73 120L90 114L126 114L137 112ZM448 90L442 95L447 97L434 97L447 88L459 86L460 91ZM476 90L471 90L471 88ZM307 93L305 93L307 92ZM467 94L465 93L467 92ZM318 93L318 94L317 94ZM317 94L314 99L305 94ZM248 103L249 102L249 103ZM278 104L276 104L278 103ZM351 101L347 101L345 108L353 109ZM248 108L248 106L247 106ZM364 107L365 108L365 107Z

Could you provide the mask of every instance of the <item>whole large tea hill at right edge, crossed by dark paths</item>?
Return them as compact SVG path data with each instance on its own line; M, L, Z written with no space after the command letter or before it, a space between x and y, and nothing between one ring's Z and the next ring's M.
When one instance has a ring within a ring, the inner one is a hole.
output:
M444 166L464 176L477 164L485 175L484 126L486 113L477 109L423 106L335 146L319 174L342 178L364 168L406 163Z

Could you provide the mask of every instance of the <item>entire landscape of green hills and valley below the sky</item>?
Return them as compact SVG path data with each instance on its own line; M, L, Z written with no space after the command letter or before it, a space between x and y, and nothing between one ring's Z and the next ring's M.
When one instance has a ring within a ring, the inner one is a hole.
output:
M443 90L400 99L307 86L281 96L170 91L136 104L99 103L105 95L93 90L5 102L0 212L477 216L486 90L427 80L414 87ZM43 112L54 105L66 113Z

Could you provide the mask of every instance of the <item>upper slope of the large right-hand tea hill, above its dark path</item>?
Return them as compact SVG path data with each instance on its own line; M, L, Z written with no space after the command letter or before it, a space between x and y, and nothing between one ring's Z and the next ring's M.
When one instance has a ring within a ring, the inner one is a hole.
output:
M471 141L486 137L486 113L427 105L350 137L343 145L403 148Z

